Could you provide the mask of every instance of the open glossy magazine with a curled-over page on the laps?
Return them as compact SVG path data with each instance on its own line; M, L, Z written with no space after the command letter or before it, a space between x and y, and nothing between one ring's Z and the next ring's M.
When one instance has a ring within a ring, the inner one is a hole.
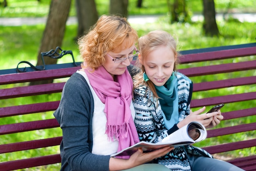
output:
M190 122L184 127L178 129L177 131L171 133L162 141L157 143L150 143L141 141L134 144L131 147L123 149L117 153L110 155L111 157L117 156L130 156L135 153L139 148L141 148L144 153L161 149L166 146L179 147L187 144L193 144L204 140L207 137L207 131L205 127L200 122Z

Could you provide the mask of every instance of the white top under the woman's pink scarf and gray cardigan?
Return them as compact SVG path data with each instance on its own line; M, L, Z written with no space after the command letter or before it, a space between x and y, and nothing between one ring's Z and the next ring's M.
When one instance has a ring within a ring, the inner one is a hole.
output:
M88 82L90 90L92 92L92 96L94 99L94 112L92 117L92 136L93 136L93 146L92 153L97 155L110 155L117 152L118 149L118 141L114 139L114 141L108 140L108 135L106 132L106 123L107 118L104 113L105 104L101 102L94 89L92 88L90 81L83 71L77 71L80 73L85 80ZM132 111L132 118L135 118L135 109L133 103L130 104L130 109Z

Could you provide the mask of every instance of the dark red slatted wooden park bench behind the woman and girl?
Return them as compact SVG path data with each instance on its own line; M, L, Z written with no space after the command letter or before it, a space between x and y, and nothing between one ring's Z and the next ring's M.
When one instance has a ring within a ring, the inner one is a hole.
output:
M217 156L249 149L251 153L241 154L227 161L246 171L255 170L256 43L194 49L181 53L183 57L178 66L179 71L189 76L194 83L191 108L196 110L206 106L206 110L209 110L213 105L225 103L222 108L224 120L216 128L208 130L207 139L204 140L216 144L203 148ZM65 81L80 68L76 65L79 65L79 62L46 65L41 71L32 71L31 67L27 67L27 72L21 73L16 69L0 70L0 171L31 167L43 167L47 170L49 164L56 164L60 169L61 157L56 149L59 149L62 140L61 129L52 113L58 107ZM205 76L212 80L207 80ZM221 79L218 79L218 76ZM54 83L29 85L29 82L52 79ZM243 89L240 89L241 87ZM52 94L57 94L58 99L52 99ZM36 102L27 102L25 97L30 96ZM16 98L20 99L21 103L14 106L10 101ZM5 104L6 101L9 103ZM244 103L248 103L249 107L243 107ZM37 119L27 119L26 116ZM16 122L13 118L20 121ZM246 123L240 122L242 118ZM47 130L52 131L45 135L44 131ZM30 132L38 138L29 139L27 136L30 134L23 135ZM55 135L55 132L59 133ZM218 141L241 132L249 133L248 137L243 137L242 140L234 138L222 144ZM17 142L16 137L24 140ZM3 139L6 140L4 143ZM55 150L49 150L51 148ZM43 155L40 150L49 152ZM18 155L20 158L12 157L18 152L21 153ZM24 153L27 158L24 158ZM3 161L4 156L6 160Z

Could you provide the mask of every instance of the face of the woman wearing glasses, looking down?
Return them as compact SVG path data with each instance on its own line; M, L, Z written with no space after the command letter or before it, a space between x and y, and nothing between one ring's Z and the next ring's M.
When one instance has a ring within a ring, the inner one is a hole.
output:
M108 54L104 56L105 63L102 65L113 78L115 75L123 74L126 68L130 65L130 62L132 61L132 58L126 59L125 61L120 63L115 63L114 61L112 61L112 58L128 58L128 56L130 56L130 54L133 52L135 45L132 45L128 49L123 49L122 47L124 46L120 46L120 48L117 48L114 51L107 51ZM108 55L110 55L112 58Z

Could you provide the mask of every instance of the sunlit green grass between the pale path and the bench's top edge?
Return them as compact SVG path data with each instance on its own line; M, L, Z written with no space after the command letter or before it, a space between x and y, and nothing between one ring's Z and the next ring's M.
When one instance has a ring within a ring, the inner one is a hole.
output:
M180 50L255 42L255 23L240 23L235 20L230 22L219 21L218 27L222 36L211 38L201 36L202 23L200 22L168 24L167 21L168 17L163 16L160 17L155 24L132 24L132 27L137 30L139 36L155 29L166 30L178 38ZM42 24L17 27L0 26L0 54L4 56L4 58L0 58L0 63L2 64L1 69L16 68L18 62L21 60L27 60L32 64L36 64L39 44L44 28L45 26ZM72 50L75 60L81 61L77 44L74 41L76 29L76 25L66 27L61 48L64 50ZM35 46L35 44L38 44L38 46ZM70 56L64 58L71 61ZM61 62L63 61L59 60L59 63Z

